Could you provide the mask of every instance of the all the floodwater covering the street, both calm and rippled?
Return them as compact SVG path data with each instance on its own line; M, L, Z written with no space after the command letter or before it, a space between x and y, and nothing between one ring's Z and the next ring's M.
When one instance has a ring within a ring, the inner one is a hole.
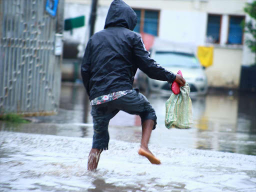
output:
M191 98L194 125L164 126L166 97L147 95L157 115L149 148L137 154L138 116L109 122L109 150L96 172L86 171L92 141L90 106L81 85L61 87L57 115L34 122L0 122L1 191L255 191L256 95L232 91Z

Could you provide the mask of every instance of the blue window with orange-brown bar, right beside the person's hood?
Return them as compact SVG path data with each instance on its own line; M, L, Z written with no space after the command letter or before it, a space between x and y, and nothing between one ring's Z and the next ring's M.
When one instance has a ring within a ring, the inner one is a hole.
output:
M137 14L137 24L133 31L145 32L154 36L158 35L159 11L134 9Z

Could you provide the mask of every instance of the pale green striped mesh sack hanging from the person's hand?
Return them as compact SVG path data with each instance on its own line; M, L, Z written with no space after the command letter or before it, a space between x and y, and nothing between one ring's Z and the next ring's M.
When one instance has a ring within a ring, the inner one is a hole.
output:
M165 102L166 128L190 128L192 126L192 101L187 83L180 87L179 94L171 94Z

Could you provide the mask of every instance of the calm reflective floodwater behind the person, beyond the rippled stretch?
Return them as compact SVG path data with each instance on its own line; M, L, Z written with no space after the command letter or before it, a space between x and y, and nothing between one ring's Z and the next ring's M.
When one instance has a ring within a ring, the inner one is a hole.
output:
M166 97L147 96L157 115L157 128L150 143L171 147L197 148L256 155L256 95L210 92L192 99L194 126L187 130L164 126ZM61 87L57 115L33 117L36 123L15 126L0 122L1 130L92 137L88 96L82 85ZM139 142L140 118L120 111L109 122L111 139ZM111 140L110 139L110 140Z

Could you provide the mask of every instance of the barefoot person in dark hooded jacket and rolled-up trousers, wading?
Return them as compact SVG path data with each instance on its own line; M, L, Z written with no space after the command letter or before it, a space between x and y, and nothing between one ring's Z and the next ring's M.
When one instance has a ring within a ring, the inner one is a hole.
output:
M138 153L151 163L160 164L147 147L156 125L155 111L144 95L132 89L133 77L139 68L153 79L170 83L175 80L182 86L185 80L149 57L140 35L132 31L136 22L136 13L126 3L113 0L104 30L92 35L85 49L81 75L92 105L94 129L88 170L97 167L100 153L108 149L108 122L119 110L140 116L142 138Z

